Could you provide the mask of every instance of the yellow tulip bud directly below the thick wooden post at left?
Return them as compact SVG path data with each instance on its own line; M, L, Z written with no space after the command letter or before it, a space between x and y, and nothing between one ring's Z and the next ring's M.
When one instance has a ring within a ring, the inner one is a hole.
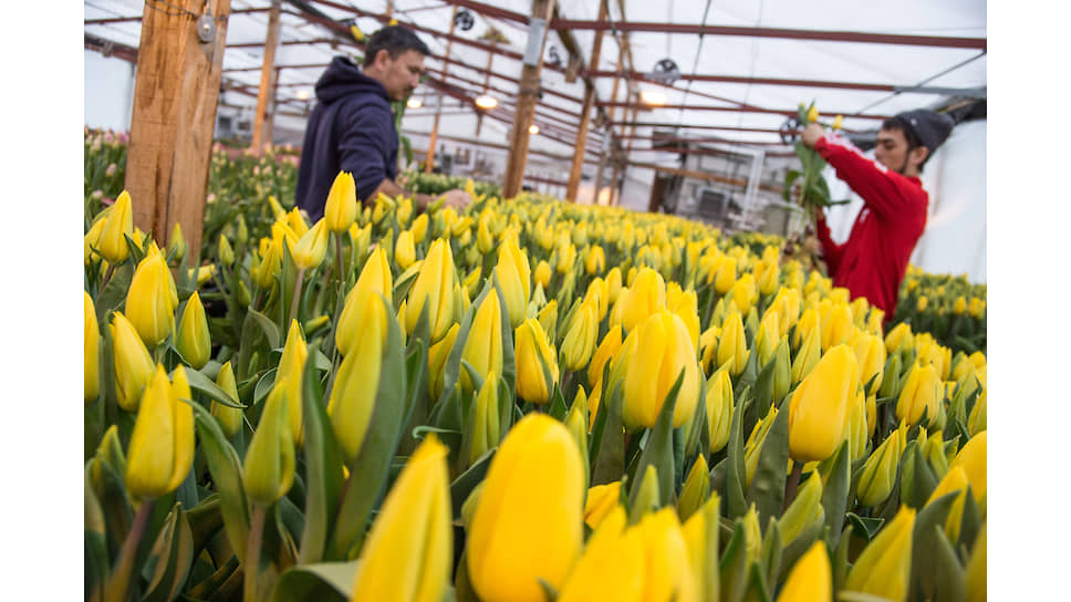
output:
M148 347L155 347L175 328L178 297L167 263L149 253L137 264L126 292L126 316Z

